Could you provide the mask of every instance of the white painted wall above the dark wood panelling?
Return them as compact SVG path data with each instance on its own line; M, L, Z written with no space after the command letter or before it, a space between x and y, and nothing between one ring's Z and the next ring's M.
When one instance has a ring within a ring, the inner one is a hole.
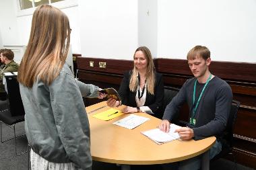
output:
M255 0L67 0L72 52L131 60L138 46L154 57L185 59L197 44L213 60L256 62ZM0 46L26 46L32 10L0 0ZM17 12L18 11L18 12ZM149 14L148 14L149 11Z

